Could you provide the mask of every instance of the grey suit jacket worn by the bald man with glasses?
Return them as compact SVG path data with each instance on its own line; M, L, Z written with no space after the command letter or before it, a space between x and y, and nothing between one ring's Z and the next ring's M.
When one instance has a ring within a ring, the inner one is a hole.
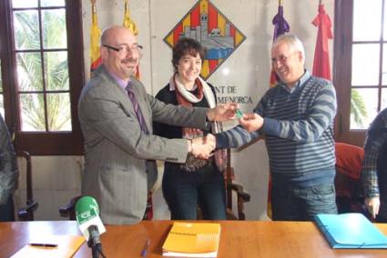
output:
M109 224L142 219L148 191L157 178L155 160L186 161L187 141L153 135L152 120L201 129L207 126L207 109L164 104L147 94L135 78L132 85L148 134L141 131L127 93L104 65L83 89L78 104L85 138L82 194L96 198L102 220Z

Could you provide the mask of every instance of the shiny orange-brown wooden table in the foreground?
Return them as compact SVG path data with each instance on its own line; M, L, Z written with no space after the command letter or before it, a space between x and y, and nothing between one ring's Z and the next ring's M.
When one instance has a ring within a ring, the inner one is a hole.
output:
M161 257L171 221L144 221L135 225L107 225L102 234L107 258L141 257L150 240L147 257ZM218 257L387 257L385 250L333 250L314 223L220 222ZM376 224L387 234L387 224ZM0 257L9 257L28 243L34 234L80 234L76 222L0 223ZM84 243L75 257L91 257Z

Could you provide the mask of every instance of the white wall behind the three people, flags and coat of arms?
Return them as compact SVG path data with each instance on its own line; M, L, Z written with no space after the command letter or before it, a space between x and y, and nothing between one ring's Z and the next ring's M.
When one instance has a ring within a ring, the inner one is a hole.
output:
M287 0L284 2L285 18L290 31L300 36L306 50L306 67L311 70L317 28L311 25L317 15L318 2ZM333 22L333 0L323 1ZM124 1L97 0L98 25L122 24ZM195 0L132 0L129 1L131 17L144 46L141 60L141 80L149 94L156 94L168 83L172 73L171 49L163 42L168 32L188 13ZM209 83L217 87L235 86L237 93L226 95L250 95L252 104L242 104L244 111L251 111L268 88L270 74L270 43L273 35L272 17L277 14L275 0L212 0L219 11L235 25L246 40L219 69L209 77ZM84 46L86 70L89 67L89 28L91 7L83 0ZM330 43L332 50L332 42ZM332 52L332 51L331 51ZM223 71L229 69L229 74ZM221 95L221 94L220 94ZM79 193L82 157L34 157L34 184L36 199L41 203L36 219L57 219L57 207ZM249 220L266 218L268 184L268 155L262 142L251 144L242 151L234 151L232 165L236 181L243 184L251 195L246 205ZM60 181L60 182L59 182ZM156 218L168 218L168 209L161 191L155 197Z

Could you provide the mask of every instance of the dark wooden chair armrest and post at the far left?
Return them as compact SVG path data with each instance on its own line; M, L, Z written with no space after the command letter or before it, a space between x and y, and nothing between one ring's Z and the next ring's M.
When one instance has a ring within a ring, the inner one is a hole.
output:
M17 156L24 158L26 164L26 201L25 206L18 210L17 216L20 221L33 221L34 213L39 204L34 200L32 191L31 155L25 151L19 151L17 152Z

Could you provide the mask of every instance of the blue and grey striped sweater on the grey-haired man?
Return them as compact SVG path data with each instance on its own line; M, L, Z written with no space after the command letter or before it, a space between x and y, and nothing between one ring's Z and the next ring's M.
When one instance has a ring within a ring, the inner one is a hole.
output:
M273 180L302 186L331 183L336 108L331 82L306 71L291 90L278 84L261 98L254 109L264 118L259 132L236 126L216 135L217 147L239 147L265 134Z

